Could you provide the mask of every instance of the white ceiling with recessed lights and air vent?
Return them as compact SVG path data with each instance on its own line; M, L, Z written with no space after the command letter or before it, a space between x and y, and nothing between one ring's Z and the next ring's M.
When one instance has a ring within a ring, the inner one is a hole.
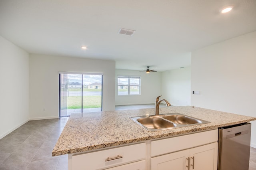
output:
M256 0L0 0L0 36L29 53L115 60L117 69L187 67L191 51L254 31Z

